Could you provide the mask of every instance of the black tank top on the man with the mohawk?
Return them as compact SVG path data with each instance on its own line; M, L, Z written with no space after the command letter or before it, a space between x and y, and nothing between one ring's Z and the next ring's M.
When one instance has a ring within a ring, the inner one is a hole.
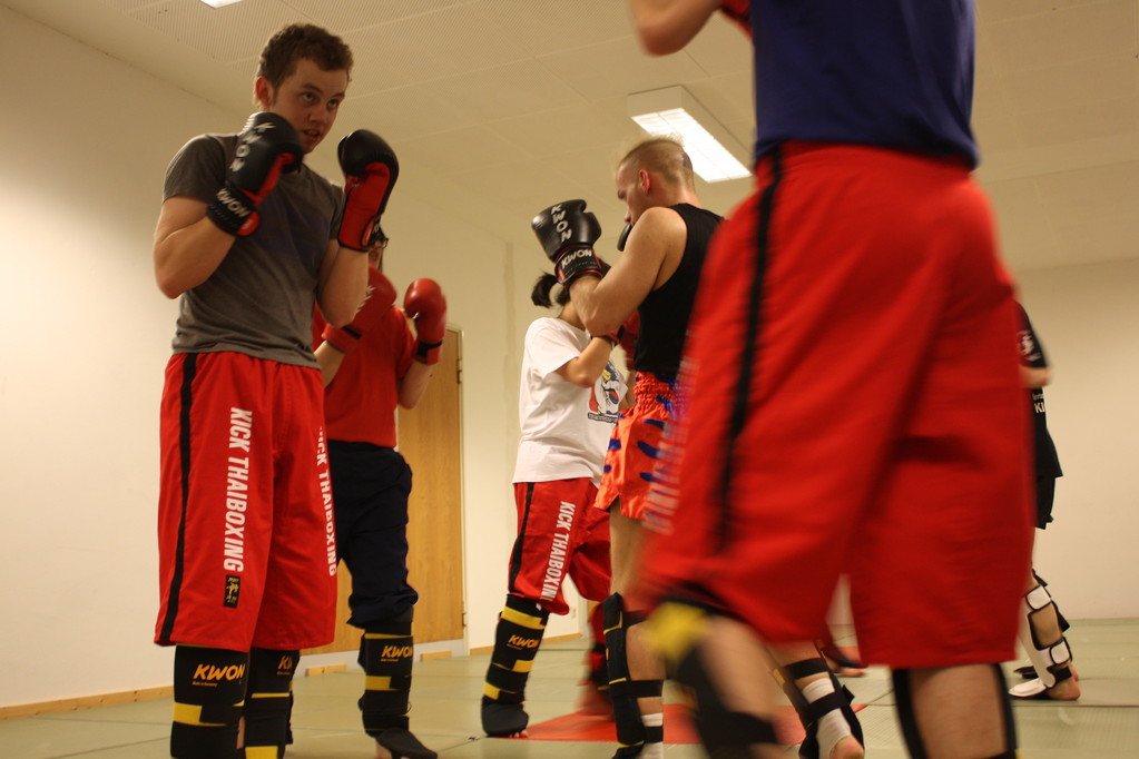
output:
M708 240L723 221L716 214L687 203L670 206L688 226L688 241L680 265L664 284L648 294L637 310L640 333L633 364L639 372L675 374L688 332L688 317L696 299L696 286L707 253Z

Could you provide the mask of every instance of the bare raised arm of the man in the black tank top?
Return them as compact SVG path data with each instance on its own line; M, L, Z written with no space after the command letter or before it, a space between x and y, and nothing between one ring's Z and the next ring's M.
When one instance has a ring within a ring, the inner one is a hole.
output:
M633 225L625 251L598 280L582 277L570 297L590 335L608 335L675 271L688 242L688 228L671 208L649 208Z

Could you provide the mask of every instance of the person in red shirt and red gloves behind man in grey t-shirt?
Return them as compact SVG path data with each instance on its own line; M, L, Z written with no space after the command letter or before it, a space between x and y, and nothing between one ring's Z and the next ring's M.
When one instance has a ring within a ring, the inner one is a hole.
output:
M352 151L350 145L342 147ZM399 164L386 143L383 148L394 182ZM391 184L382 207L390 193ZM411 624L419 594L408 584L411 469L395 449L395 411L413 409L427 389L446 330L446 300L436 282L417 279L403 308L396 307L395 288L383 272L388 239L378 224L369 242L368 291L352 322L337 328L319 314L314 319L336 545L352 576L349 624L363 630L359 706L364 732L376 740L377 759L434 759L436 753L409 729Z

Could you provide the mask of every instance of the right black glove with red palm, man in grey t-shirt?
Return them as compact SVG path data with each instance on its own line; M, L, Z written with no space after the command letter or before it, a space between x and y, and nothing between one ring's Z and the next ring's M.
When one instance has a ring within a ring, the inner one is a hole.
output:
M367 250L400 175L400 162L382 137L362 129L341 140L336 154L344 171L344 216L336 237L347 248Z

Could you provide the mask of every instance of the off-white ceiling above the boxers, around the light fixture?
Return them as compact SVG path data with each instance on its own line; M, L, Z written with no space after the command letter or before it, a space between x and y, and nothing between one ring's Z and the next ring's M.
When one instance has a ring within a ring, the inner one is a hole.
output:
M976 175L1009 261L1030 269L1139 256L1139 2L977 3ZM264 40L288 22L326 26L357 59L337 132L383 134L404 165L405 190L462 206L451 213L503 239L528 234L539 208L568 197L589 199L603 240L615 239L624 211L613 164L642 134L625 113L631 92L683 85L740 143L753 142L749 46L719 16L685 51L654 58L622 0L0 5L233 112L235 123L249 109ZM335 171L331 152L314 159ZM751 184L697 189L727 213Z

